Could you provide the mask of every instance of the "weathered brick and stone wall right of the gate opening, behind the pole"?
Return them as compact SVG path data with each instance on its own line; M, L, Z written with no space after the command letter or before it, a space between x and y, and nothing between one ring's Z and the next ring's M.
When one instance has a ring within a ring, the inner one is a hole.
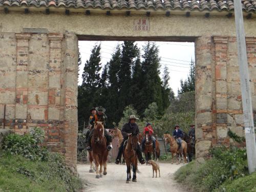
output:
M246 46L255 114L256 38L246 38ZM228 137L228 129L244 136L236 37L197 38L196 65L196 148L197 157L204 157L210 146L238 145Z

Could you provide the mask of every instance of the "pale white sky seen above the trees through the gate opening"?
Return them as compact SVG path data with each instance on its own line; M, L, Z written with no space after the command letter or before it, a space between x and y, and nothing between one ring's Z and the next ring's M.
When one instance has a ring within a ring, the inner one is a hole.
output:
M84 63L89 60L93 46L101 43L101 63L102 66L111 59L112 53L118 44L122 41L79 41L79 51L82 58L82 64L79 69L78 84L82 82L82 71ZM136 41L138 47L147 44L146 41ZM175 95L180 88L180 79L186 79L189 73L189 63L191 59L195 60L195 45L194 42L158 42L156 46L159 49L159 56L161 57L161 77L163 75L163 68L168 67L170 81L169 86L173 89Z

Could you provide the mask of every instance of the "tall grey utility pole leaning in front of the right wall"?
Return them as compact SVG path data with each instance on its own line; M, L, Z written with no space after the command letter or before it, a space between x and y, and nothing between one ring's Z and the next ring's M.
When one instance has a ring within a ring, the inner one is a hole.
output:
M249 174L251 174L256 171L256 143L241 0L234 0L234 17L236 20L238 63L241 79L247 161Z

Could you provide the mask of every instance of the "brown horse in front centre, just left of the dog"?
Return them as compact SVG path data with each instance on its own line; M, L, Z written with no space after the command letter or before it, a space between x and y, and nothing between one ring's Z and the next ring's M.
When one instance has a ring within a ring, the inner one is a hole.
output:
M126 146L124 148L124 158L126 163L126 173L127 173L127 179L126 183L129 183L131 181L131 166L133 167L133 182L137 182L136 177L136 170L138 167L138 161L137 161L137 144L138 144L138 137L136 135L129 134L128 140L126 143Z

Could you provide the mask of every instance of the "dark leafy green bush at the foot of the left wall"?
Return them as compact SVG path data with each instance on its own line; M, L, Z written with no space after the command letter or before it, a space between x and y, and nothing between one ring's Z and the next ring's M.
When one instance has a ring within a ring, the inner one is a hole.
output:
M3 148L11 155L22 155L31 160L45 161L48 159L48 151L46 147L40 146L44 135L44 131L39 128L35 128L24 136L10 134L4 139Z

